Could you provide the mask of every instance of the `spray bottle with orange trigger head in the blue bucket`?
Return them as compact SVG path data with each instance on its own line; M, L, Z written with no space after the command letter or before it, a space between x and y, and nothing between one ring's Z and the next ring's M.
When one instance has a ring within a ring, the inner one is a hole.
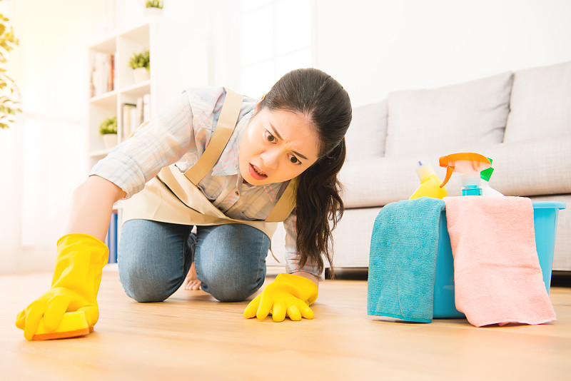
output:
M482 195L480 171L492 166L492 163L480 153L453 153L440 158L440 166L446 168L446 177L440 187L450 180L453 172L462 173L462 195Z

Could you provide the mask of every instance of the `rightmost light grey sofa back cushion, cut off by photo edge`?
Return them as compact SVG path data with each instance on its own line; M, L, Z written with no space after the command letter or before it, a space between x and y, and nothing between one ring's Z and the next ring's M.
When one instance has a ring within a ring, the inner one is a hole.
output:
M571 62L514 74L505 142L571 134Z

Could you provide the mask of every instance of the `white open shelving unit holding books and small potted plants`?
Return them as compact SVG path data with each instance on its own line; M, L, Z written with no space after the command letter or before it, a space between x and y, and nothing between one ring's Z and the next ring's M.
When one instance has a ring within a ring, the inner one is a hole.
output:
M146 49L151 57L150 79L134 83L128 60ZM103 119L117 116L118 142L127 138L122 136L124 103L136 103L148 94L152 119L185 88L208 85L207 36L181 21L151 16L139 26L98 41L89 47L91 68L98 53L114 56L114 88L89 98L89 169L110 151L103 148L99 134Z

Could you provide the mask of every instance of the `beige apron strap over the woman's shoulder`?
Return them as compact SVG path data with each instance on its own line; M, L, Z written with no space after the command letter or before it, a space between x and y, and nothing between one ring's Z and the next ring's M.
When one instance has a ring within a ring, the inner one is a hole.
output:
M184 176L194 185L198 185L204 176L208 175L222 155L222 151L226 147L236 127L236 121L238 121L241 108L242 96L236 93L236 91L227 88L222 111L218 117L216 129L208 142L208 146L206 146L206 149L198 161L184 173Z

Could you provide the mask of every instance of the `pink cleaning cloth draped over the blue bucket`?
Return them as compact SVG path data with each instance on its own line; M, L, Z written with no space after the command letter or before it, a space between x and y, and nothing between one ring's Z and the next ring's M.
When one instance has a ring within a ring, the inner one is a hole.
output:
M555 320L545 290L529 198L444 198L456 308L476 327Z

